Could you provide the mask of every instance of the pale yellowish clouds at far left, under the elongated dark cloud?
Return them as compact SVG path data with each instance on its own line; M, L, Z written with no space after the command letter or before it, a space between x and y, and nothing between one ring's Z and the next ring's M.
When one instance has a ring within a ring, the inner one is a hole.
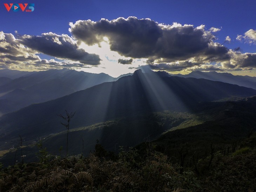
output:
M72 60L60 62L53 59L41 59L39 55L37 55L38 53L41 53L40 50L33 49L34 47L25 46L21 43L19 37L20 36L15 38L13 34L0 32L1 69L46 70L88 67L87 64ZM55 39L55 41L58 42L58 39ZM61 41L58 43L61 43Z

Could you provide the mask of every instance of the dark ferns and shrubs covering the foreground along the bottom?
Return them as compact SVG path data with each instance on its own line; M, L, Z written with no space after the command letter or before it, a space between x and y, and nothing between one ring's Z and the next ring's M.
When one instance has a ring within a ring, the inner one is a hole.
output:
M40 145L39 145L40 146ZM145 151L130 148L118 156L100 144L89 157L51 156L40 148L39 162L1 169L0 191L248 191L256 189L256 135L233 153L190 158L183 169L147 143ZM142 155L143 154L143 155Z

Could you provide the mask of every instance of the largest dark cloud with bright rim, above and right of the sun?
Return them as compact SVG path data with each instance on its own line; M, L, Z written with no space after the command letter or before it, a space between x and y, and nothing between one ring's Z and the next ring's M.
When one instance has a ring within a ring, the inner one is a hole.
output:
M132 58L148 58L149 60L185 60L198 55L211 55L215 36L204 29L204 26L164 25L150 19L117 18L100 21L79 20L70 23L69 31L78 42L88 45L100 44L107 37L110 49L120 55ZM213 31L218 30L212 28ZM218 52L219 50L219 52ZM220 57L223 52L220 44L215 44L214 52Z

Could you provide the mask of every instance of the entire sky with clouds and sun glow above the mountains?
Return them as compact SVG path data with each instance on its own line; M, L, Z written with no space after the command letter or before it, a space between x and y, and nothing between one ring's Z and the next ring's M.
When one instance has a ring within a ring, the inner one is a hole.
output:
M147 66L256 76L255 7L252 0L1 0L0 69L117 77Z

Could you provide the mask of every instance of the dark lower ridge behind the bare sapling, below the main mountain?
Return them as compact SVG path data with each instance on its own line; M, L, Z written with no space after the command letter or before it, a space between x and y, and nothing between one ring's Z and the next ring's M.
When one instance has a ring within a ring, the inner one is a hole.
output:
M78 155L83 152L83 154L88 155L90 151L94 150L96 140L99 140L104 148L109 151L115 151L115 147L117 151L119 146L135 146L148 139L156 139L161 133L177 127L185 121L191 121L192 118L194 116L187 112L164 111L70 129L68 154ZM41 138L43 148L46 147L52 155L63 156L66 154L67 131L65 127L63 127L63 130L62 132ZM9 164L14 164L16 148L20 146L19 141L20 139L17 137L17 140L14 142L14 149L2 151L2 153L7 152L1 159L1 162L5 165L8 162ZM23 141L23 146L26 147L22 148L22 154L26 155L25 160L27 162L36 160L35 153L38 152L38 148L35 143L36 140L26 141L25 139ZM61 146L63 148L60 151ZM20 155L21 150L19 149L16 154L18 162L21 161Z

